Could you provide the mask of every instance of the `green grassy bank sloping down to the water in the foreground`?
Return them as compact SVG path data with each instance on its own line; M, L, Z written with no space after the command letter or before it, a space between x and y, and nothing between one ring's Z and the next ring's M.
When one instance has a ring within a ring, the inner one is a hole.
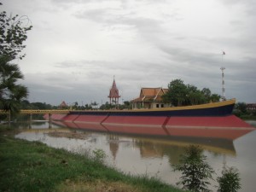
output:
M0 191L182 191L155 178L125 175L84 155L15 139L6 132L0 136L0 174Z

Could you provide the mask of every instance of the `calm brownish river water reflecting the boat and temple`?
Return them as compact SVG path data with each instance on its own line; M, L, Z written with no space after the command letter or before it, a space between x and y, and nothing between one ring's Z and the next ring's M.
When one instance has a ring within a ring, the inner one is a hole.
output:
M253 126L256 121L248 122ZM93 154L102 149L105 162L121 172L159 177L175 185L181 176L172 171L180 155L190 144L204 149L207 162L216 175L221 176L224 166L235 166L240 172L241 192L254 192L256 181L256 131L250 131L235 140L203 137L146 137L121 135L109 132L74 129L48 122L15 125L20 133L15 137L28 141L40 141L54 148L66 148L80 154ZM193 130L191 130L193 131ZM209 187L216 191L218 183L212 181ZM181 187L181 186L179 186Z

